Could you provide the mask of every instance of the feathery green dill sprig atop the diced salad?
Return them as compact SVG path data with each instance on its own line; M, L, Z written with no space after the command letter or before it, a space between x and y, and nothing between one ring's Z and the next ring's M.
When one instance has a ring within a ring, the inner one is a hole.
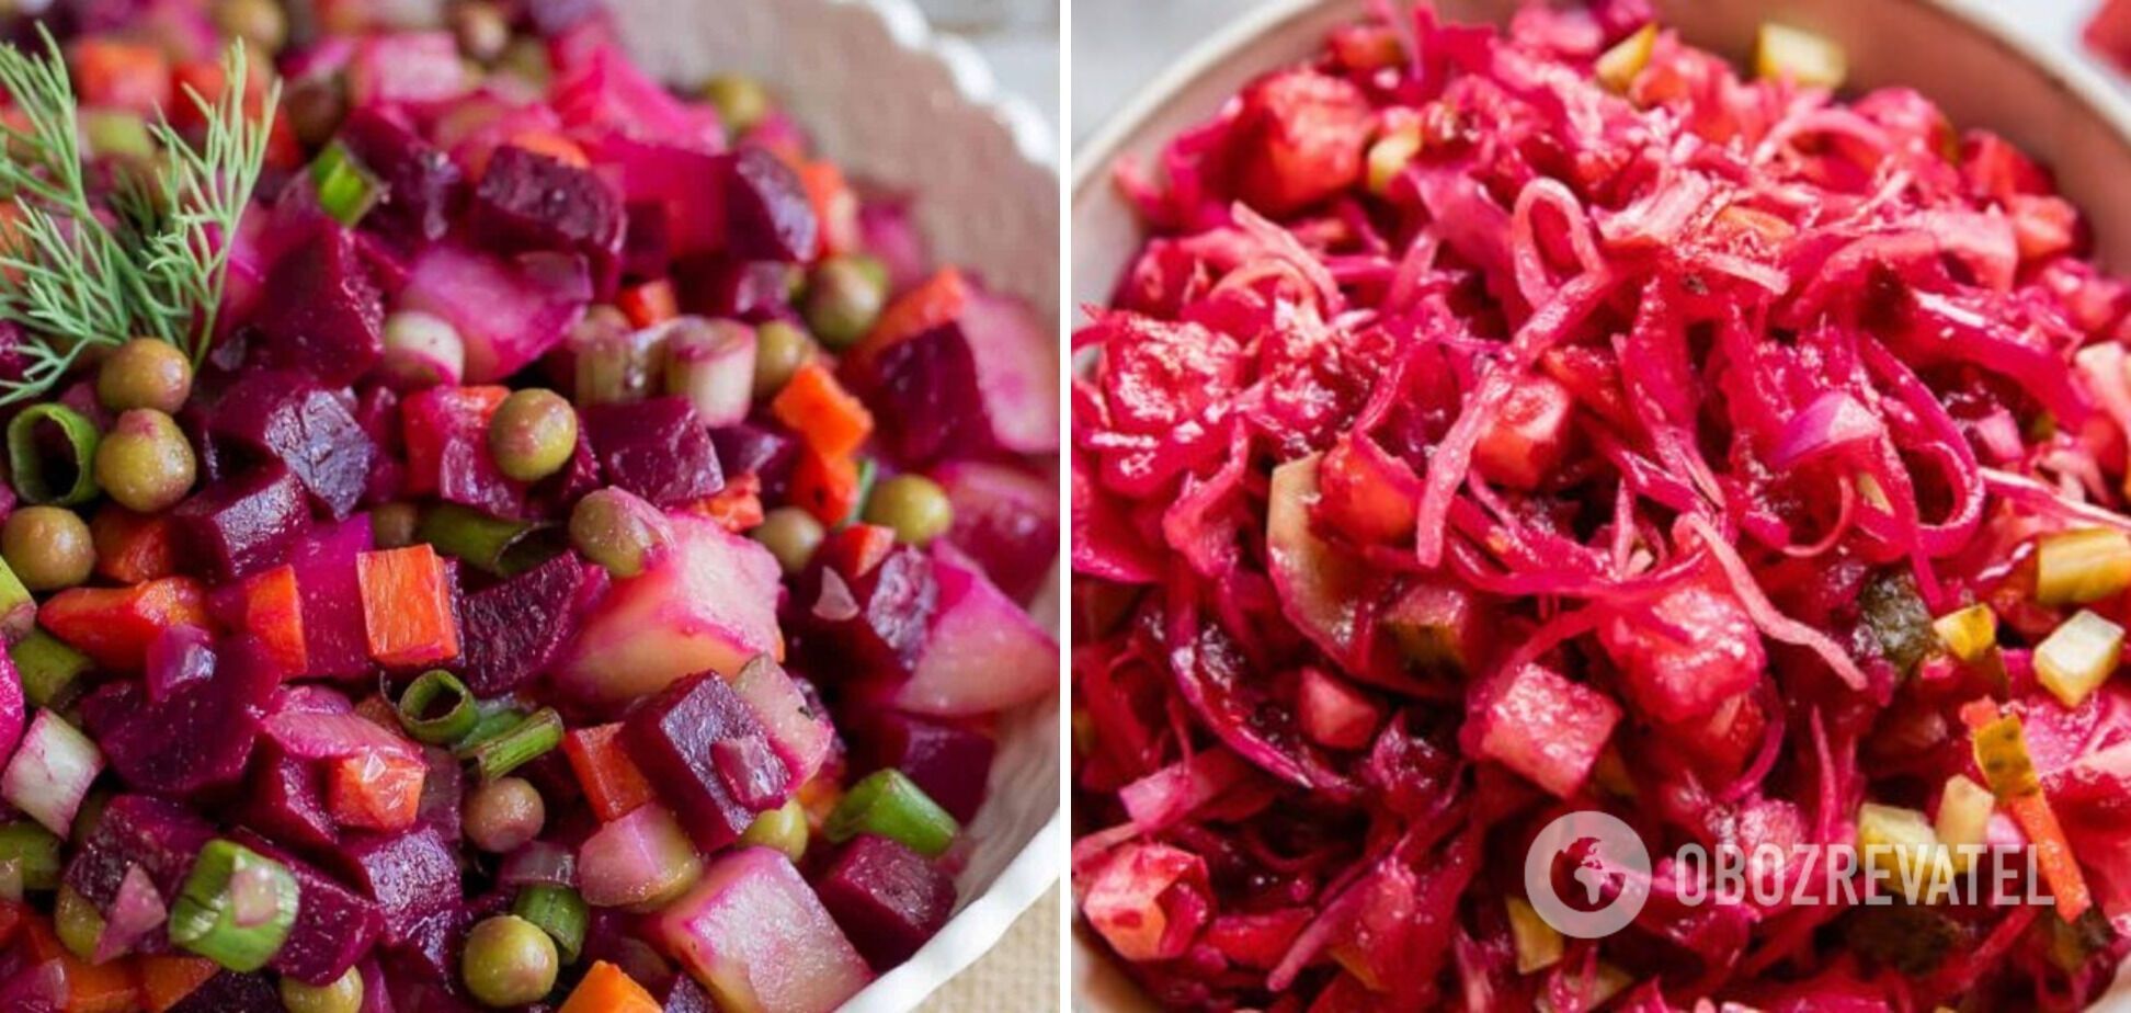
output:
M160 337L207 358L230 269L230 239L251 203L281 96L269 87L260 115L245 115L243 43L222 60L222 96L190 85L181 100L205 119L192 145L156 117L160 156L109 196L90 188L81 122L66 60L38 28L43 53L0 47L0 90L21 126L0 124L0 192L15 194L15 222L0 237L0 320L26 339L19 377L0 377L0 405L43 395L96 345Z

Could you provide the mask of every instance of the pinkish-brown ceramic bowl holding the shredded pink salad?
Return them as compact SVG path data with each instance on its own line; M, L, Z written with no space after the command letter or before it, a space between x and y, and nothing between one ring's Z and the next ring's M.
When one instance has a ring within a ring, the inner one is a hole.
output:
M1394 0L1404 6L1406 0ZM1451 21L1504 23L1522 0L1436 0ZM1074 154L1074 305L1102 305L1138 252L1140 224L1110 186L1119 156L1153 164L1176 132L1210 117L1242 85L1311 58L1325 34L1368 17L1368 0L1274 0L1234 21L1155 79ZM2056 171L2065 196L2095 224L2099 256L2131 273L2131 90L2088 60L2044 47L2016 28L2016 0L1656 0L1662 23L1690 43L1743 58L1762 21L1809 28L1850 53L1850 85L1907 85L1956 126L1986 126ZM1100 49L1097 49L1100 51ZM1083 58L1085 60L1085 58ZM1078 936L1078 932L1076 932ZM1085 938L1074 940L1074 1009L1146 1009ZM2131 985L2097 1011L2131 1011Z

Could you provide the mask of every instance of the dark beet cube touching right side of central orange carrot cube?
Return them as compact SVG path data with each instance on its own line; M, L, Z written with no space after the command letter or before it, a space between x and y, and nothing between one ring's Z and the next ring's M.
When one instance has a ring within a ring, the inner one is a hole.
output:
M575 629L578 595L586 580L586 565L565 552L467 595L460 604L467 689L479 697L499 697L546 670Z

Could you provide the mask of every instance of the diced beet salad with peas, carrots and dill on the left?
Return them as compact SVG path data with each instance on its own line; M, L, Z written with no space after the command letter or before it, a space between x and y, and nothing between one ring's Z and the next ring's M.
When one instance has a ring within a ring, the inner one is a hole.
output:
M0 1009L840 1007L1057 685L1046 326L590 4L300 6L0 51Z

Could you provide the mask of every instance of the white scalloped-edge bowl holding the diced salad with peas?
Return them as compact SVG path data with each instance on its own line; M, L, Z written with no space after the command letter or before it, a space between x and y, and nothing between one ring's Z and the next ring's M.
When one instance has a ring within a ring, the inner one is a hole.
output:
M829 158L914 198L940 262L970 264L1042 320L1057 320L1055 134L1042 115L997 90L974 49L931 34L908 0L614 6L624 43L652 75L682 85L720 70L763 79ZM1036 614L1057 629L1055 591ZM970 836L976 849L957 879L955 919L846 1013L914 1009L1057 881L1066 832L1055 702L1004 719L991 795Z

